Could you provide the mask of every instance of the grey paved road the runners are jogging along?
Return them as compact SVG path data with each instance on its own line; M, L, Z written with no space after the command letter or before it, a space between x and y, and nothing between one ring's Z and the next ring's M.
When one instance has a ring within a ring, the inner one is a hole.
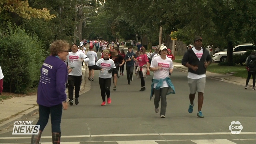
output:
M98 54L99 55L99 54ZM125 72L126 73L126 72ZM140 92L140 80L127 85L120 76L117 91L111 89L112 103L101 106L98 71L91 89L81 95L79 105L63 112L62 144L255 144L255 91L243 86L207 78L202 112L188 113L188 84L186 73L174 70L172 82L176 94L168 95L166 118L154 112L150 101L151 76L146 78L146 90ZM113 84L112 86L113 87ZM195 101L197 104L197 102ZM38 115L31 117L35 120ZM240 121L240 134L231 134L231 121ZM36 123L37 120L34 121ZM15 137L19 136L19 138ZM28 144L30 135L0 134L0 143ZM51 124L46 126L42 144L51 144Z

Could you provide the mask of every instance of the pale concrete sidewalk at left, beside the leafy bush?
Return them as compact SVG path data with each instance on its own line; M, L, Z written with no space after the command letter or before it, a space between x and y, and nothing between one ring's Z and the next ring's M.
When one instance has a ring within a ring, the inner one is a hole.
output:
M90 82L87 82L88 67L82 66L82 84L80 95L90 89ZM68 89L66 89L68 97ZM68 98L67 98L68 99ZM14 121L26 120L27 117L38 113L37 96L14 97L0 102L0 131L12 127Z

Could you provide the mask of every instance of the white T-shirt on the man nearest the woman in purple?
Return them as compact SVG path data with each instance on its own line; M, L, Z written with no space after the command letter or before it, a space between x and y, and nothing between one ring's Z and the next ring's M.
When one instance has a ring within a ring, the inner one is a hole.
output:
M69 63L69 67L75 67L69 73L69 75L81 76L82 75L82 62L87 56L82 52L69 52L67 56L67 60Z

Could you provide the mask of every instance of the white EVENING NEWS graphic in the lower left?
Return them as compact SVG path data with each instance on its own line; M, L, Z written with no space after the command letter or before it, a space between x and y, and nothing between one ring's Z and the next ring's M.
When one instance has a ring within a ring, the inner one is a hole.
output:
M39 128L40 125L33 125L33 121L14 121L12 134L38 134Z

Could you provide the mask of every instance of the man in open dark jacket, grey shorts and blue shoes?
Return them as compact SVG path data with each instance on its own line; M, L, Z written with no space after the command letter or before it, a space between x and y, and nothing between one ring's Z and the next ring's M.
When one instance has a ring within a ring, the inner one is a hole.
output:
M188 49L181 61L182 65L188 67L188 86L189 92L189 108L188 113L192 113L195 105L196 92L198 93L198 117L204 117L201 112L203 105L203 94L205 88L206 68L211 64L212 57L207 49L202 48L202 38L195 37L195 47Z

